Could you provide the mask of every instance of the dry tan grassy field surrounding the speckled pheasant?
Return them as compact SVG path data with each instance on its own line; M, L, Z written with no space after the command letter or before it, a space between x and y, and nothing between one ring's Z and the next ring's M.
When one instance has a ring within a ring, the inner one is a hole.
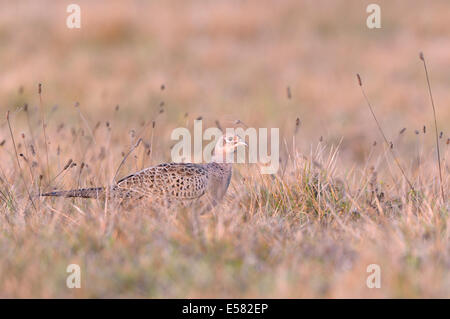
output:
M68 29L70 3L0 4L0 297L450 297L447 0L377 1L381 29L370 1L78 1ZM119 176L170 161L198 117L279 127L278 173L236 164L201 217L30 200L110 184L139 138Z

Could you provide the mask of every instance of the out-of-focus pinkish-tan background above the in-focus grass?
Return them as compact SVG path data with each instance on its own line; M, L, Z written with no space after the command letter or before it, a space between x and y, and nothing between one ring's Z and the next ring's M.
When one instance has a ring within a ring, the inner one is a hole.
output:
M119 105L123 123L116 125L128 133L153 120L163 103L155 142L162 145L173 128L199 116L205 126L240 119L281 127L289 141L298 117L305 151L321 137L336 144L343 138L342 156L364 161L381 139L355 73L388 138L406 127L399 147L415 152L414 130L432 124L423 51L447 137L446 0L377 1L381 29L366 26L371 1L290 0L77 1L81 28L69 29L72 2L1 3L1 112L36 106L42 83L49 127L75 121L76 102L92 126ZM432 136L422 139L432 147ZM167 159L169 147L162 151Z

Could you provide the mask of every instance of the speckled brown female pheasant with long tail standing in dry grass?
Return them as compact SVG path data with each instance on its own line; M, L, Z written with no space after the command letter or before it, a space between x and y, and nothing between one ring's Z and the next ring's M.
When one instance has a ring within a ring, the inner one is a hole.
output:
M225 159L240 145L247 146L238 135L226 134L218 139L208 163L162 163L107 187L59 190L40 196L108 198L120 204L166 208L196 205L210 210L225 196L232 176L232 163Z

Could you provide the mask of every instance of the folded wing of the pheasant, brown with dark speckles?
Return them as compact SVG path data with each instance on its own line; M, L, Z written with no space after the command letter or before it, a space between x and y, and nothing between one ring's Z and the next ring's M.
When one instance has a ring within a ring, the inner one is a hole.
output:
M124 177L117 187L144 196L186 200L205 194L207 184L208 171L201 164L169 163Z

